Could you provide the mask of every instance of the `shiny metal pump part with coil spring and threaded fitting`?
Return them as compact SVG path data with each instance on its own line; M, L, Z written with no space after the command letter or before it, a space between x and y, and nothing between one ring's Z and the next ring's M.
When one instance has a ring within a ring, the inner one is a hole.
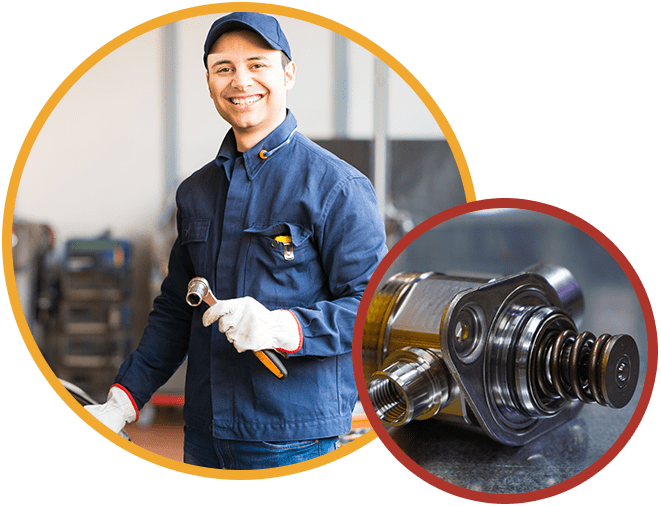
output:
M625 406L638 380L631 336L579 333L583 294L563 267L504 278L403 273L363 331L370 400L387 425L439 418L522 445L584 403Z

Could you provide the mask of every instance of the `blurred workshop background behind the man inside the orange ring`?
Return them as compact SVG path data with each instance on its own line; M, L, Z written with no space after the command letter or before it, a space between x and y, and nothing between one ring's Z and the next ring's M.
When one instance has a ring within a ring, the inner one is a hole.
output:
M167 24L101 59L57 104L23 169L13 226L21 305L55 375L98 402L167 274L174 192L215 157L229 129L202 61L218 17ZM389 244L466 201L443 132L399 75L326 28L278 19L297 65L288 107L299 131L370 177ZM175 460L185 370L127 428L136 444ZM368 429L358 406L342 440Z

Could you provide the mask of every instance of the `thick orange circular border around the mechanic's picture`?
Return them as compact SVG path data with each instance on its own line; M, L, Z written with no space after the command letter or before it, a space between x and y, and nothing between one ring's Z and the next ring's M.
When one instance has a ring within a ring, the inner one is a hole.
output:
M399 61L397 61L393 56L391 56L383 48L372 42L370 39L364 37L358 32L352 30L351 28L344 26L340 23L337 23L329 18L307 12L301 9L286 7L274 4L265 4L265 3L239 3L239 2L228 2L228 3L216 3L216 4L207 4L196 7L189 7L174 11L171 13L163 14L161 16L155 17L137 25L130 30L118 35L107 44L100 47L97 51L92 53L87 57L82 63L80 63L72 72L69 74L62 83L57 87L53 94L46 101L39 114L32 123L21 149L19 150L16 162L14 163L14 168L9 179L9 186L7 190L7 197L5 199L5 207L2 219L2 263L5 274L5 283L7 285L7 292L9 295L9 303L14 314L14 319L21 333L25 346L27 347L32 359L35 364L43 374L44 378L51 385L53 390L57 395L69 406L69 408L76 413L81 419L83 419L88 425L90 425L94 430L96 430L103 437L119 446L120 448L126 450L127 452L139 457L143 460L156 464L160 467L171 469L173 471L182 472L185 474L190 474L194 476L200 476L205 478L216 478L216 479L231 479L231 480L253 480L253 479L267 479L267 478L277 478L281 476L289 476L292 474L301 473L311 469L316 469L318 467L324 466L331 462L335 462L350 453L364 447L366 444L370 443L376 439L376 434L373 431L368 432L367 434L359 437L357 440L352 441L351 443L343 446L342 448L322 457L315 458L313 460L303 462L300 464L294 464L291 466L266 469L259 471L228 471L228 470L212 470L205 469L201 467L191 466L188 464L182 464L174 460L162 457L160 455L154 454L147 450L144 450L138 447L135 444L132 444L119 435L113 433L100 422L98 422L94 417L89 415L89 413L83 409L66 389L60 384L57 377L51 371L50 367L44 360L41 351L36 345L34 338L30 332L27 321L21 309L21 304L18 298L18 290L16 287L16 279L14 277L14 264L12 258L11 250L11 234L12 234L12 222L14 217L14 207L16 204L16 195L18 192L18 185L21 179L21 174L23 173L23 168L27 161L28 155L34 142L39 135L39 132L44 126L44 123L48 119L49 115L53 112L57 104L64 97L64 95L69 91L69 89L87 72L90 68L96 65L101 59L110 54L115 49L126 44L127 42L133 40L134 38L147 33L156 28L162 27L169 23L175 21L180 21L183 19L208 15L208 14L220 14L225 12L232 11L251 11L251 12L264 12L273 15L281 15L296 18L302 21L307 21L315 25L319 25L323 28L331 30L346 37L347 39L352 40L353 42L359 44L363 48L370 51L379 59L383 60L391 69L393 69L406 83L413 89L413 91L418 95L418 97L423 101L425 106L429 109L431 114L434 116L434 119L440 126L445 138L450 145L452 153L454 155L455 161L459 168L459 173L461 176L462 184L464 187L464 192L466 194L467 201L475 200L475 189L473 187L473 181L468 169L468 163L464 156L463 150L459 145L459 141L450 126L450 123L446 119L445 115L436 104L432 96L427 92L427 90L422 86L422 84L411 74L406 67L404 67Z

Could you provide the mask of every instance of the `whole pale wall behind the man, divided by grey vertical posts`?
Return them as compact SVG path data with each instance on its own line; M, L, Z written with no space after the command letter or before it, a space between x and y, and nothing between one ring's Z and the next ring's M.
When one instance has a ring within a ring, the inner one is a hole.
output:
M211 160L228 129L208 95L202 46L217 16L176 23L177 175ZM299 129L333 136L333 37L279 17L297 63L288 105ZM134 237L153 228L164 198L164 29L144 34L90 69L57 105L23 171L15 217L49 223L58 238L111 229ZM351 138L373 135L374 57L350 42ZM443 139L422 101L390 72L391 138Z

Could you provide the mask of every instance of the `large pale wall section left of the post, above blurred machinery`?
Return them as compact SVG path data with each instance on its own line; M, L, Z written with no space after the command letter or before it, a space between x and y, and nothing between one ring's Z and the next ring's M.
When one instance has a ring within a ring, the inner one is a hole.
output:
M120 47L64 96L30 151L15 218L46 222L58 239L151 225L163 186L160 41L154 31Z

